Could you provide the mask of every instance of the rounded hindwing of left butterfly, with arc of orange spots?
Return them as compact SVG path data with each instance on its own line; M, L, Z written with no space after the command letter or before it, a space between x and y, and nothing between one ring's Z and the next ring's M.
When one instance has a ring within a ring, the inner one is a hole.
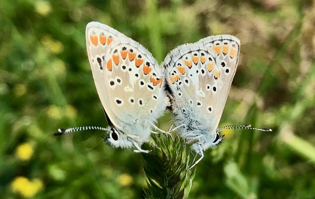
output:
M120 39L107 52L104 84L111 96L110 109L124 123L155 121L165 109L163 71L138 42ZM119 111L118 111L119 110Z

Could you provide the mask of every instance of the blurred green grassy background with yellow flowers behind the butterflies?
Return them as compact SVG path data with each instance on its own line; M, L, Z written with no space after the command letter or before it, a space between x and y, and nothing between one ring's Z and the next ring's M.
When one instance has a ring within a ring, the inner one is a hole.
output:
M315 1L0 1L0 198L141 198L141 154L106 127L85 46L90 21L140 42L160 63L213 34L241 40L222 125L234 130L197 165L192 199L315 197ZM159 119L166 130L171 113Z

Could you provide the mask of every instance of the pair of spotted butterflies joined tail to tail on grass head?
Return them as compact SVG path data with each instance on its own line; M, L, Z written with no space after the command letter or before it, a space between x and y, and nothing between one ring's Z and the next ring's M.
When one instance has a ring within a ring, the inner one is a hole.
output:
M147 153L141 145L149 141L152 128L158 129L154 123L170 103L179 135L201 155L197 162L203 150L221 142L224 135L217 128L237 68L238 38L223 34L180 45L161 66L140 43L98 22L87 25L86 44L110 127L55 134L100 129L108 133L104 140L111 146Z

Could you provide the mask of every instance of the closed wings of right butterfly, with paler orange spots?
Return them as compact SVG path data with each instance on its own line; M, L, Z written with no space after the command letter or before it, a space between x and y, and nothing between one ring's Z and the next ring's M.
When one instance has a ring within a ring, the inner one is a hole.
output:
M179 133L189 142L215 138L239 50L232 35L209 36L175 48L163 61L175 125L185 124Z

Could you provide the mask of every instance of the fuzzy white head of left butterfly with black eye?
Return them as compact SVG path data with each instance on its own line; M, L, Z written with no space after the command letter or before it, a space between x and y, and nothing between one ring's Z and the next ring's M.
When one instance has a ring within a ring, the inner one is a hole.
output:
M102 138L108 145L115 148L117 147L132 148L133 147L133 142L131 138L126 136L125 133L115 128L111 128L107 136L103 134Z

